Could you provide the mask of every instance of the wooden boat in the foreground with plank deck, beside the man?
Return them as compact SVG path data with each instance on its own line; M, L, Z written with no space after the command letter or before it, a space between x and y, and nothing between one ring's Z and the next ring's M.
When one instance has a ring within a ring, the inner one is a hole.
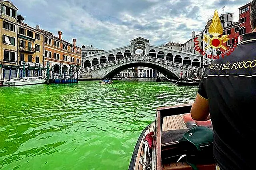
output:
M190 116L191 107L190 103L156 109L155 121L148 125L138 138L129 170L195 169L192 168L191 162L188 162L186 155L184 156L185 153L188 153L188 145L191 143L182 144L180 139L184 139L186 132L191 136L191 130L202 128L202 126L212 131L212 124L210 120L206 122L193 121ZM212 147L212 145L208 147L207 153L212 151ZM205 149L206 145L203 148ZM192 155L194 156L194 152ZM194 160L198 161L198 157L194 157ZM202 157L198 162L194 165L199 170L216 170L213 153L210 153L210 161L206 161L205 157Z

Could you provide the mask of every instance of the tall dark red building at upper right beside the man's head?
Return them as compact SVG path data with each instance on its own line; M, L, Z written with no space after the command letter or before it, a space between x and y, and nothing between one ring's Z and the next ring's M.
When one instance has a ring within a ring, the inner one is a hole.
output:
M240 40L242 40L242 35L252 32L250 9L251 3L239 8Z

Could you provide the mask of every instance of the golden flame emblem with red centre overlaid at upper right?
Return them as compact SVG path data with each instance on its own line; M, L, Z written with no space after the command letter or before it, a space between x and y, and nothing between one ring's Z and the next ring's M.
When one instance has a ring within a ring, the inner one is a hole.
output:
M214 16L212 18L212 24L209 27L209 33L213 37L210 38L209 35L204 34L203 40L206 43L209 43L209 41L210 41L210 45L205 47L205 49L212 47L214 49L222 48L222 49L226 50L226 47L224 45L222 45L222 43L226 43L228 41L228 35L222 35L222 37L219 37L219 35L221 35L223 33L223 28L221 26L220 18L219 18L217 10L215 10L215 12L214 12Z

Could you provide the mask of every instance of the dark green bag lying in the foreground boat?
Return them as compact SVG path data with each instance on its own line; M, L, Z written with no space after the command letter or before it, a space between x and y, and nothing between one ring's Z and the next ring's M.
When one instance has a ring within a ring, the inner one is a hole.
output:
M179 143L186 147L186 162L194 170L196 164L215 163L213 157L213 130L204 126L196 126L184 133Z

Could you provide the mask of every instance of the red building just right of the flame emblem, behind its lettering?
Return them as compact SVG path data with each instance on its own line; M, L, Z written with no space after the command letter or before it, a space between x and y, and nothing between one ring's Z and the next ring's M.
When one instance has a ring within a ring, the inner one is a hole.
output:
M226 43L223 43L222 45L224 45L227 50L230 49L230 47L234 47L234 44L239 43L240 42L240 38L239 38L239 22L235 22L232 25L229 25L227 27L223 28L223 35L228 35L228 41ZM220 51L226 51L222 48L220 48ZM219 51L217 51L216 53L220 55Z

